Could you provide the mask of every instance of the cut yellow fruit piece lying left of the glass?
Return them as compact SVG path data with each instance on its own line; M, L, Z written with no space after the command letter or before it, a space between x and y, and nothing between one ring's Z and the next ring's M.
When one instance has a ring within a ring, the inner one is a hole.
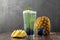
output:
M11 37L26 37L27 33L24 30L14 30L11 34Z

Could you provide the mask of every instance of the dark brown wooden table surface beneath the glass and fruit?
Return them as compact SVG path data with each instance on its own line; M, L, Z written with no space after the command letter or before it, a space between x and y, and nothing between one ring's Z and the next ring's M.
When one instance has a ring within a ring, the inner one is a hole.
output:
M11 38L11 33L0 33L0 40L60 40L60 33L51 34L49 36L27 36L26 38Z

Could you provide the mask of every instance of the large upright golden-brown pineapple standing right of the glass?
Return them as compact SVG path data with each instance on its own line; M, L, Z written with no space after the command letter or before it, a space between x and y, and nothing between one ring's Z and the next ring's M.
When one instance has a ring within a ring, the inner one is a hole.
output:
M44 28L44 35L50 34L50 19L46 16L38 17L36 20L36 33L38 33L39 28Z

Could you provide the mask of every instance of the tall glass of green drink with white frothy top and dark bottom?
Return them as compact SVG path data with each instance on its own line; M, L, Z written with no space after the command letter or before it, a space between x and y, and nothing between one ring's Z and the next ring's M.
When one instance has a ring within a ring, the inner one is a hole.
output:
M24 30L28 35L34 34L36 11L25 10L23 11Z

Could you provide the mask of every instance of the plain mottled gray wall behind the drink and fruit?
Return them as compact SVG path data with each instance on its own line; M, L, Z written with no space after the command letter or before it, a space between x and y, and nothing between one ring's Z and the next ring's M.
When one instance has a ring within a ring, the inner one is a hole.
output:
M30 6L37 17L51 19L51 31L60 32L60 0L0 0L0 32L23 29L23 10Z

